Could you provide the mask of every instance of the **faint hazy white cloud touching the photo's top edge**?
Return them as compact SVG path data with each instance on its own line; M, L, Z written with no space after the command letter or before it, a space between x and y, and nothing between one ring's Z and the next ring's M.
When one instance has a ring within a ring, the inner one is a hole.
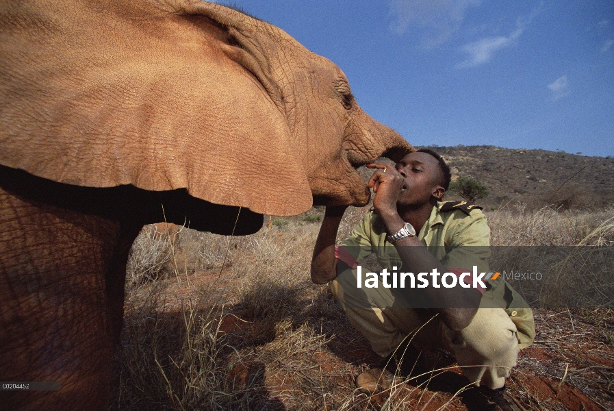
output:
M481 0L392 0L390 13L396 17L391 29L401 34L410 24L426 29L425 47L440 45L459 29L465 11Z

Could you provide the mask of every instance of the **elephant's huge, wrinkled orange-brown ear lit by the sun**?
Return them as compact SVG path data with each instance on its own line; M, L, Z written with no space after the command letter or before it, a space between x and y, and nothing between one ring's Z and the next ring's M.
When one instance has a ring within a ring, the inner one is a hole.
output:
M201 1L26 3L0 11L0 164L262 214L311 207L274 40L253 36L266 23Z

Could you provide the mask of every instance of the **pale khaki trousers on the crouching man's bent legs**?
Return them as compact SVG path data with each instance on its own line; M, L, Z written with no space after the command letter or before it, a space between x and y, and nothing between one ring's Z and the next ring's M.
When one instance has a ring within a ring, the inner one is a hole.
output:
M453 352L465 376L476 386L495 389L504 385L505 377L516 365L517 329L494 301L483 297L470 325L453 331L436 316L424 318L422 310L378 308L392 306L391 289L380 283L378 288L359 290L355 282L344 282L344 278L351 277L337 277L331 282L331 290L350 322L380 356L388 356L405 338L411 338L411 345L418 349Z

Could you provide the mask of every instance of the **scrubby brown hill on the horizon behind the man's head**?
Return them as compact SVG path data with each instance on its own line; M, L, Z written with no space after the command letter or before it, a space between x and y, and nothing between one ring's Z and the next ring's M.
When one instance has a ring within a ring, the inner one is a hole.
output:
M614 201L614 158L494 146L428 148L444 156L452 179L470 176L483 182L490 191L480 201L486 206L520 201L597 209Z

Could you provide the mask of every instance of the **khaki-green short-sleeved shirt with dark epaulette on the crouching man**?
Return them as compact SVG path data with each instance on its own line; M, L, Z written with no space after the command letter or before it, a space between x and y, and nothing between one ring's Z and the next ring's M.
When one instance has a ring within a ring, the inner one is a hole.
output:
M442 212L440 209L443 205L443 202L438 202L433 207L431 216L420 229L418 240L448 269L471 271L475 265L478 272L488 273L490 229L486 216L478 208L470 210L469 215L461 210ZM375 253L381 266L393 271L393 267L402 266L402 261L386 236L383 221L376 212L370 211L341 247L357 262ZM485 284L487 288L483 298L493 300L507 312L518 329L520 349L528 347L535 338L533 312L501 275Z

